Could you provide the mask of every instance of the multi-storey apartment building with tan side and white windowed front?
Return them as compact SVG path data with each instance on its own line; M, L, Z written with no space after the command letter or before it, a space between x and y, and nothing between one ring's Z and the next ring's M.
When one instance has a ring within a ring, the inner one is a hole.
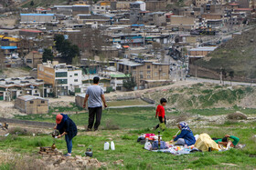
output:
M80 68L56 61L37 65L37 78L53 85L56 96L69 95L70 92L80 93L81 75Z

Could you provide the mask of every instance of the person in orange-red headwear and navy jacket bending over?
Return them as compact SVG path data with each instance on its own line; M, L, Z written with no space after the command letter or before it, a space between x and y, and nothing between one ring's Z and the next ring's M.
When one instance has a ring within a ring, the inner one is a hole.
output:
M69 118L68 115L59 114L56 115L56 126L54 129L59 130L58 138L65 135L65 140L67 143L68 154L66 156L71 155L72 152L72 138L77 135L78 129L77 125Z

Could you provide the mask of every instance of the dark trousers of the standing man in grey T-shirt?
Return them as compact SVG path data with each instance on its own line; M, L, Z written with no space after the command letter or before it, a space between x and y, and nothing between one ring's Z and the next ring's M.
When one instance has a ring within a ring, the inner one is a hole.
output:
M98 129L101 124L101 113L102 107L88 107L89 109L89 123L88 128L91 129L94 123L94 117L96 115L96 122L94 124L94 129Z

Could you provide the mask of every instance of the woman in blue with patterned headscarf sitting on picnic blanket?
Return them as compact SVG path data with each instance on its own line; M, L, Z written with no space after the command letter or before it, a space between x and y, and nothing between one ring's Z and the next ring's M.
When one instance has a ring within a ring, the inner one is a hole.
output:
M174 140L171 140L171 143L174 141L176 141L176 145L194 145L196 143L193 132L186 122L180 122L177 127L181 130L181 133L180 135L174 135Z

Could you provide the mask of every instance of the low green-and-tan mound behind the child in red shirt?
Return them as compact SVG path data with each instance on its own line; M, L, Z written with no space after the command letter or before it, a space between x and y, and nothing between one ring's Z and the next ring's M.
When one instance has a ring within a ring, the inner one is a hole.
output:
M196 84L179 86L165 90L156 90L144 94L158 103L165 97L168 108L177 110L205 109L205 108L229 108L235 105L255 108L255 87L245 86L220 86L213 84Z

